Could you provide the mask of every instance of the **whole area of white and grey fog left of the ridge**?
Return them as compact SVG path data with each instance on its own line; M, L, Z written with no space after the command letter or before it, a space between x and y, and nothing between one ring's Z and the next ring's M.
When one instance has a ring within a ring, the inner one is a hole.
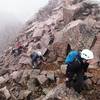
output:
M0 0L0 55L19 34L23 24L48 0Z

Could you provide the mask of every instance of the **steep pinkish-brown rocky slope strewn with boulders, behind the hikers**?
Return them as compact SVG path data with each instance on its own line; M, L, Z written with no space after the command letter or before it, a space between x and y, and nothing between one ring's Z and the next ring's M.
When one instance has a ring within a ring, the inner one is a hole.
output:
M0 59L2 100L99 100L99 13L97 4L85 0L51 0L17 38L25 46L23 53L13 57L9 48ZM88 88L79 95L65 86L63 63L70 49L83 48L91 48L97 61L89 66ZM28 55L35 50L45 62L33 70Z

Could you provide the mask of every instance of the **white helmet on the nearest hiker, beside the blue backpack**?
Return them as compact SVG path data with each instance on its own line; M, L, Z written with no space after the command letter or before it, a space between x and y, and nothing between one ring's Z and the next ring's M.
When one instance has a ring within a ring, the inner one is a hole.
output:
M94 58L93 52L88 49L83 49L81 52L81 58L86 60L93 59Z

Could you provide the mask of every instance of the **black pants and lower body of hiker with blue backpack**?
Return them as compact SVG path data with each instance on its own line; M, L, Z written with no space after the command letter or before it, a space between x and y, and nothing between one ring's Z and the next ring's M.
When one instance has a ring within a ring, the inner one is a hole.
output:
M78 62L73 62L67 67L68 83L67 85L73 87L77 92L81 92L84 86L84 68Z

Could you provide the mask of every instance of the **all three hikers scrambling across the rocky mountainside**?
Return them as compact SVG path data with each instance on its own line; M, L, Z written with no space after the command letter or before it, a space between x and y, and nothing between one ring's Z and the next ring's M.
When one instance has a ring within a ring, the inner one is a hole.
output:
M18 43L17 47L12 50L14 56L20 55L23 47ZM40 51L33 52L30 55L32 59L33 69L43 61L43 55ZM66 81L67 87L73 87L77 92L81 92L84 87L84 80L87 78L85 72L87 72L88 66L94 58L94 54L89 49L83 49L82 51L72 50L65 58L66 68Z

